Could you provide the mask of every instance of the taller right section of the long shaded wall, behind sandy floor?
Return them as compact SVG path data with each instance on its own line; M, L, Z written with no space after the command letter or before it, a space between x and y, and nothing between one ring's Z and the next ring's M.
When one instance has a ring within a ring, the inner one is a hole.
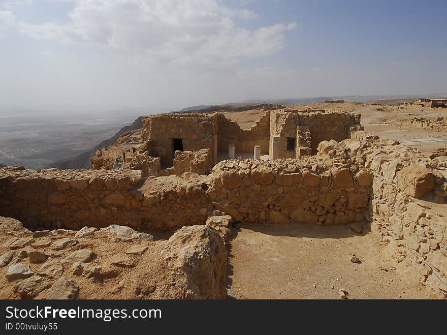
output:
M362 176L359 181L344 167L312 163L224 161L214 167L206 193L236 221L332 225L365 220L371 180Z

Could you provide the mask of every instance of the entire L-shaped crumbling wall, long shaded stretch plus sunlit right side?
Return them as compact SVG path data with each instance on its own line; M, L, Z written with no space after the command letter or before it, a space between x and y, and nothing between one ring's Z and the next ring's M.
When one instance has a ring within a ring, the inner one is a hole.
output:
M399 263L411 262L422 282L447 293L447 159L364 132L352 137L323 141L302 160L228 160L210 175L187 178L2 168L0 216L75 229L171 229L205 224L216 210L253 223L369 220Z

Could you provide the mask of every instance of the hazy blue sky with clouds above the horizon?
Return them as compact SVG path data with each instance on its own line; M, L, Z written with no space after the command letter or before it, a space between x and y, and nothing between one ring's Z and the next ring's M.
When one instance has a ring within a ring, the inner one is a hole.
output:
M0 110L447 92L447 2L0 0Z

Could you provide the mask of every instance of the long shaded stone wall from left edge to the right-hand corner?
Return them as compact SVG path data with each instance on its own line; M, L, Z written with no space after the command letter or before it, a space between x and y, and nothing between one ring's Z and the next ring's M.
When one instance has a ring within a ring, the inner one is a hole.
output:
M349 170L293 160L224 161L209 176L144 184L141 171L4 168L0 176L0 215L31 227L170 229L205 224L216 209L244 222L343 224L364 220L369 199Z

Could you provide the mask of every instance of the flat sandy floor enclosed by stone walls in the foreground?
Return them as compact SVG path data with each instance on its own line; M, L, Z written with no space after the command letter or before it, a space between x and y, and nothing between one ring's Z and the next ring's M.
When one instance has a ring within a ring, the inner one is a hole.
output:
M241 299L436 298L380 241L347 226L244 225L230 241L228 288Z

